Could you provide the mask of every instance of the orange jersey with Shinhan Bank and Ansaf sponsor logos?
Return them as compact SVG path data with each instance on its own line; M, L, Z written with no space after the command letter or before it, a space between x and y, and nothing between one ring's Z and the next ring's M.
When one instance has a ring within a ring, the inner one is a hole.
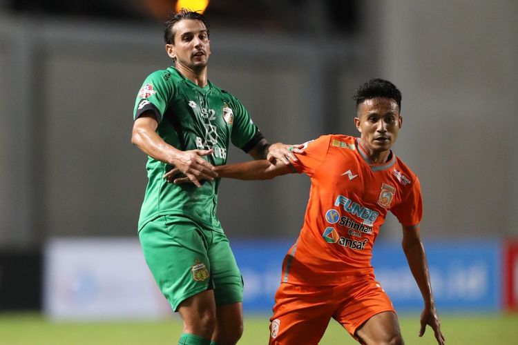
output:
M394 154L372 164L359 138L324 135L293 162L311 177L304 225L282 263L282 282L335 285L374 275L372 246L390 210L404 226L423 214L419 179Z

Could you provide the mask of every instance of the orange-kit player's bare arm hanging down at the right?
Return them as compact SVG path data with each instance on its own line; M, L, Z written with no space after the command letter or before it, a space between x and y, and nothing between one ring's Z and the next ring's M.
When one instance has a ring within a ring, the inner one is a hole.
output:
M414 279L416 280L421 295L425 302L423 313L421 313L421 330L419 337L425 333L426 325L428 324L434 330L435 338L441 345L444 344L445 339L441 333L441 322L435 308L434 295L432 293L432 285L430 284L430 273L428 273L428 262L426 261L425 248L421 241L421 233L419 225L403 226L403 251L407 258L408 266Z

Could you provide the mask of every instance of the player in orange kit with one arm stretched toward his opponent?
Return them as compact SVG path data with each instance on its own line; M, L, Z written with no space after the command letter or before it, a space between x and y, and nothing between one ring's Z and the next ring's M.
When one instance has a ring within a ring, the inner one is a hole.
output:
M388 210L403 226L403 250L423 295L419 335L428 324L444 344L419 231L419 179L390 149L403 122L401 92L390 81L372 79L354 99L359 138L323 135L308 141L291 165L264 160L216 168L220 177L235 179L290 172L311 178L303 228L282 263L269 344L318 344L331 318L362 344L403 344L392 302L370 262ZM166 177L173 180L173 172Z

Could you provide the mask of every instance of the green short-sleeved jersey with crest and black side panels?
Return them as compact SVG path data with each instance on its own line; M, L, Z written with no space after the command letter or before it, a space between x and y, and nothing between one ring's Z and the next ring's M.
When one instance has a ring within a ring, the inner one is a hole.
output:
M203 157L213 166L225 164L230 141L248 152L262 139L242 103L210 81L201 88L173 67L149 75L135 101L134 119L154 112L157 134L179 150L209 150ZM164 174L173 167L148 157L148 185L139 230L161 215L181 215L220 230L216 217L220 179L194 184L172 184ZM222 230L220 230L222 231Z

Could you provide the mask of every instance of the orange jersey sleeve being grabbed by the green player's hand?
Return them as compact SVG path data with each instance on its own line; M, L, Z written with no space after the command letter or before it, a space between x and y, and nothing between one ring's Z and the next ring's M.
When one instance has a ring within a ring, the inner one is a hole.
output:
M323 135L304 144L304 153L296 153L298 161L291 161L298 173L311 177L325 159L331 135Z

